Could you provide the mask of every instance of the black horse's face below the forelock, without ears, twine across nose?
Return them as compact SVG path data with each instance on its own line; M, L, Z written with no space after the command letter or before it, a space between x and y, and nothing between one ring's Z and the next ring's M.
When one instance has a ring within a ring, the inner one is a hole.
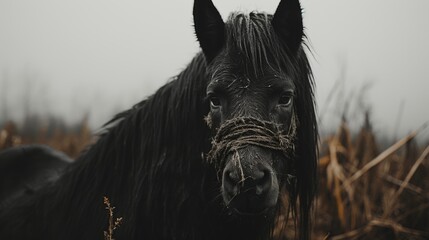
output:
M208 118L218 131L213 148L224 151L212 161L221 163L218 171L227 207L241 214L266 213L277 205L292 170L295 86L284 73L267 70L258 77L240 73L244 66L234 64L238 59L222 55L212 65L216 71L207 87Z

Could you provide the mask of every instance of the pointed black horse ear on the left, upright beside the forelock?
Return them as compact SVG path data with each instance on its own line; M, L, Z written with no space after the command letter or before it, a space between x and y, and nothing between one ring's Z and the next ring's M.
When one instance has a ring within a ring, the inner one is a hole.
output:
M225 24L211 0L194 1L194 26L201 49L210 62L225 41Z

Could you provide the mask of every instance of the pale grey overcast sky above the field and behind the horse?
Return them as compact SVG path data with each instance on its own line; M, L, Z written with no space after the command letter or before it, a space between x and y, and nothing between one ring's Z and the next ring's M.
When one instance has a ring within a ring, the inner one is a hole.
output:
M192 4L0 0L0 107L15 105L7 114L19 117L23 96L29 95L27 106L34 112L74 121L89 111L92 125L99 126L153 93L199 51ZM272 13L278 1L214 4L226 19L234 10ZM337 124L341 103L359 99L361 92L378 131L396 132L399 121L406 133L429 120L428 0L302 0L302 5L323 125ZM343 81L327 107L338 79ZM361 113L349 115L360 124Z

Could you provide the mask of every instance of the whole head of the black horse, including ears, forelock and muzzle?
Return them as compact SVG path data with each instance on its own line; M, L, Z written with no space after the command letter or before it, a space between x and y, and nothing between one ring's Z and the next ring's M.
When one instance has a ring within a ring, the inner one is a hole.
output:
M235 213L273 212L293 173L296 88L290 58L302 38L298 0L283 0L274 16L233 14L223 23L209 0L196 1L194 21L208 62L208 154Z

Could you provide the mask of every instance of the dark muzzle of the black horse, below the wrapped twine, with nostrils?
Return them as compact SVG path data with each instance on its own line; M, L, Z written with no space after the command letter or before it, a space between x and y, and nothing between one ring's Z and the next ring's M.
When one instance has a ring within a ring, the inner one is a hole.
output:
M256 146L228 156L222 173L225 205L240 215L261 215L277 205L279 183L270 152Z

